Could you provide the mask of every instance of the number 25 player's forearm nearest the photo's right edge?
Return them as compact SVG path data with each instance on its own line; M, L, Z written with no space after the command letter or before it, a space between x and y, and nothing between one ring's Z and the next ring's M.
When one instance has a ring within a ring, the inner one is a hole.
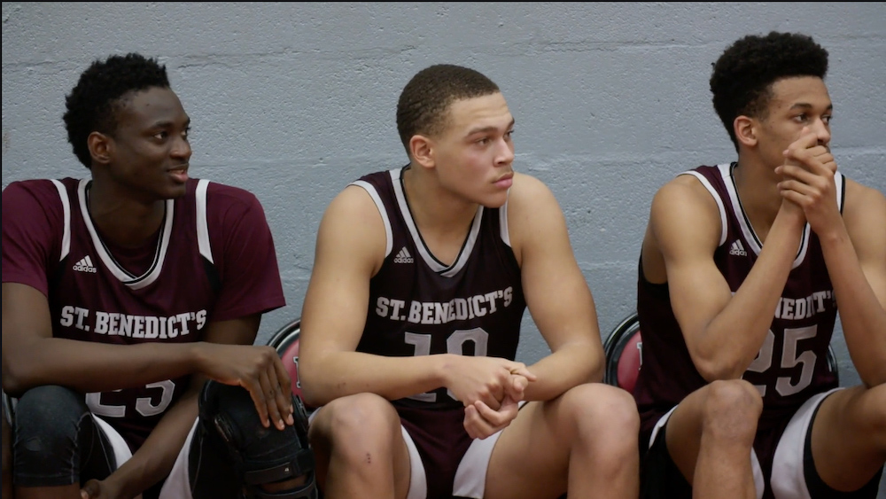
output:
M881 385L886 381L886 310L865 277L849 234L838 230L820 240L852 363L867 386Z

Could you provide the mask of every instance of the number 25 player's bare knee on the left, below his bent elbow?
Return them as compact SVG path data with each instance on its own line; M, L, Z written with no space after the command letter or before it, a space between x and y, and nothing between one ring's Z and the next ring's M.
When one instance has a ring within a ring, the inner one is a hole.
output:
M747 381L714 381L703 405L703 432L753 441L762 412L763 398Z

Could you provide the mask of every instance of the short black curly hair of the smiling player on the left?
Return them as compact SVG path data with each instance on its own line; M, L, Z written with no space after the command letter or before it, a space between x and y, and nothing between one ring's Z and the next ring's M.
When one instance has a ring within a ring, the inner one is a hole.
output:
M80 75L74 90L65 98L67 111L63 119L74 155L86 168L92 166L89 134L98 131L113 136L116 114L132 92L155 87L169 88L166 66L135 52L113 55L104 61L96 59Z

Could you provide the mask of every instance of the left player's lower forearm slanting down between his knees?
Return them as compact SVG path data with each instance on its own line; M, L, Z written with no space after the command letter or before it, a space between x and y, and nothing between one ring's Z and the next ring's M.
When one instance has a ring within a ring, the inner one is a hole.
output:
M197 420L198 393L198 390L191 389L167 410L142 447L109 477L108 480L120 484L123 497L141 494L172 471L175 459Z

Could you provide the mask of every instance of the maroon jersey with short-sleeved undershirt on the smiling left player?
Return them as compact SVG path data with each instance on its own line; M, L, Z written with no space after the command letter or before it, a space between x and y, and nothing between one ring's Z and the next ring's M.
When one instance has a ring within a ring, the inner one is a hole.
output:
M129 249L97 231L89 184L32 180L4 190L3 281L47 295L53 336L192 342L210 321L284 305L273 241L252 194L192 179L185 196L166 201L156 237ZM188 381L87 394L86 402L137 448Z

